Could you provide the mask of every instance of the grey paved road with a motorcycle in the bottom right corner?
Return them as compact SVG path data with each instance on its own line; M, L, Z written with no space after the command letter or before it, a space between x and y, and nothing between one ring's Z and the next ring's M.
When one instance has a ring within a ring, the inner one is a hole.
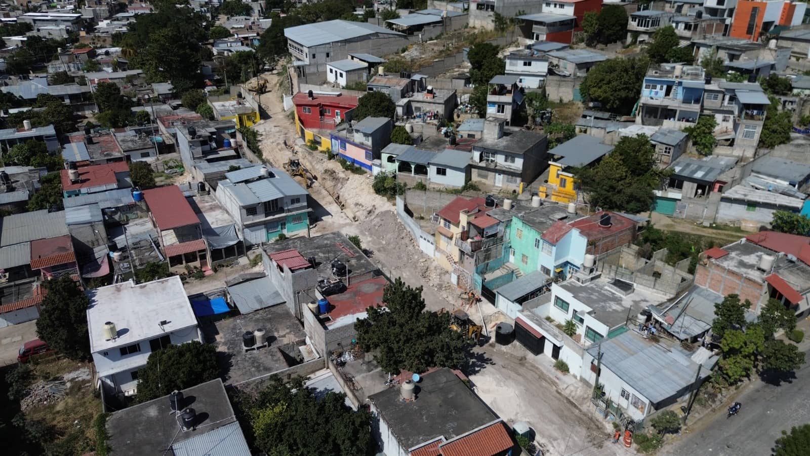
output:
M770 454L782 429L810 423L810 364L804 364L796 376L792 383L780 386L752 385L737 398L743 404L739 415L726 419L725 408L716 411L698 421L693 426L696 431L685 435L662 453L673 456Z

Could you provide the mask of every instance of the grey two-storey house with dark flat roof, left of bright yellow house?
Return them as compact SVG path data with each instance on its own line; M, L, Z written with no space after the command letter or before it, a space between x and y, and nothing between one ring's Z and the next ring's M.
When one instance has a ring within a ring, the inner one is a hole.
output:
M511 131L487 118L484 138L472 144L471 176L478 185L521 192L548 166L548 136Z

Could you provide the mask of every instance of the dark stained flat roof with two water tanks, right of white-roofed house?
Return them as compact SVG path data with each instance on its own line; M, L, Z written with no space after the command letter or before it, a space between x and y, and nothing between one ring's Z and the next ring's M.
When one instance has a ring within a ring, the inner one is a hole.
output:
M201 325L203 337L216 346L220 369L226 385L265 376L290 367L288 357L296 357L305 345L306 333L287 306L271 306L227 320ZM242 350L245 331L264 329L270 346L254 351Z

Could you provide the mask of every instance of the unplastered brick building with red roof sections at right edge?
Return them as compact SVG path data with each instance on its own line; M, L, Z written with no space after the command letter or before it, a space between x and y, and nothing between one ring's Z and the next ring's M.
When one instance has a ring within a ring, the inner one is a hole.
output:
M776 231L748 234L701 255L695 285L718 295L738 295L759 314L768 299L777 299L797 316L810 309L810 238Z

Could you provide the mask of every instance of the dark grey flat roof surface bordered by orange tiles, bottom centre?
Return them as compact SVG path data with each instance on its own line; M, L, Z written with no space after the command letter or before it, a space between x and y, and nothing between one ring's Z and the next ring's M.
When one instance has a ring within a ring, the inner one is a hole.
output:
M410 449L436 437L453 439L497 419L489 407L450 369L424 374L416 386L416 400L403 401L399 388L369 396L373 407Z

